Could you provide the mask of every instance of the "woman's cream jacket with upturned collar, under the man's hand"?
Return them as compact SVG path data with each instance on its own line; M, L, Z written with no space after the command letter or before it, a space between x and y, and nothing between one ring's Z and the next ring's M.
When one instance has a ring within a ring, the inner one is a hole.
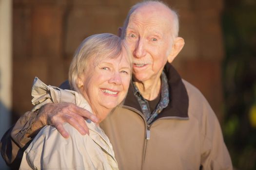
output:
M34 110L49 102L74 102L79 107L92 111L89 104L77 92L47 86L35 79L32 88ZM45 126L25 150L20 170L117 170L113 147L94 122L86 121L90 136L81 136L69 125L64 128L70 134L65 139L53 126Z

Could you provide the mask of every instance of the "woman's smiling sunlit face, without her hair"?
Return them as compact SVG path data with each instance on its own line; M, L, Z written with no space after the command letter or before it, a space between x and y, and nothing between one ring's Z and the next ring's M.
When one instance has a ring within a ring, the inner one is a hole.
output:
M113 109L123 101L129 88L131 65L125 52L122 53L115 59L103 57L96 66L89 61L82 94L92 107Z

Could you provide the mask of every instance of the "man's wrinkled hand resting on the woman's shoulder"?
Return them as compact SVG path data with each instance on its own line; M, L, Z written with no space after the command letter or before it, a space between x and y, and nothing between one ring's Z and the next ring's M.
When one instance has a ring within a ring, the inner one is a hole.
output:
M72 103L49 103L38 110L38 120L43 125L52 125L57 128L59 133L68 138L69 134L64 129L63 123L68 122L75 127L81 135L89 134L88 127L84 119L90 119L97 122L98 119L89 111L78 107Z

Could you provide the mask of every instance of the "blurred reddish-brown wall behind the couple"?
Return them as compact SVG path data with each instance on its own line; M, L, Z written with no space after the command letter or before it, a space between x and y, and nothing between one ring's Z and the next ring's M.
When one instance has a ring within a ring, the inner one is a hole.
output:
M197 86L221 119L220 28L222 0L163 0L180 17L185 47L174 61L185 80ZM49 85L67 79L72 55L88 35L117 34L138 0L13 0L14 121L31 110L35 76Z

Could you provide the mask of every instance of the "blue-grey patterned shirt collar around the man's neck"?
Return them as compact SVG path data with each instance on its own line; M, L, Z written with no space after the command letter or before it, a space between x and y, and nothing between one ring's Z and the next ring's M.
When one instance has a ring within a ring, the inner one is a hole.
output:
M134 85L134 95L136 96L138 103L141 107L142 113L145 116L145 119L147 121L147 124L151 124L153 120L158 116L161 111L167 107L169 103L169 87L167 82L167 77L164 72L161 74L161 96L160 96L160 102L158 103L157 107L153 112L150 112L150 107L146 99L143 98L143 96L138 91L138 87Z

